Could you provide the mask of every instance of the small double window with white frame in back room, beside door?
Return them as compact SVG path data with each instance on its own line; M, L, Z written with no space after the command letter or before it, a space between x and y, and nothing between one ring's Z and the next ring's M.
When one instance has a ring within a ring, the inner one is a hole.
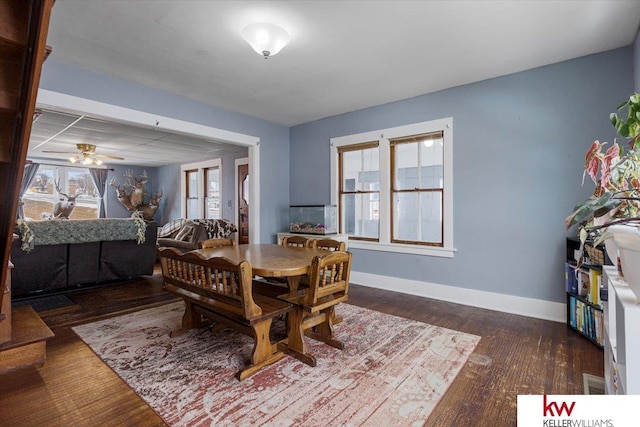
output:
M184 218L221 218L220 159L182 165Z

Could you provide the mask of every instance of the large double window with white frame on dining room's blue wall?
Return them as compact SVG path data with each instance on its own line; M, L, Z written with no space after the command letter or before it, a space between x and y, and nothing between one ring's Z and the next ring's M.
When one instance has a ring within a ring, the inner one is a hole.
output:
M452 257L453 120L331 140L332 201L353 248Z

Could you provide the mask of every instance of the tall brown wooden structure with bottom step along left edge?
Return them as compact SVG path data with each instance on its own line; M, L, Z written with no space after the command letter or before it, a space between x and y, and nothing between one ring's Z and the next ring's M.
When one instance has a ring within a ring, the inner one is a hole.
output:
M11 310L9 254L53 0L0 1L0 373L41 364L51 330ZM50 51L50 49L49 49Z

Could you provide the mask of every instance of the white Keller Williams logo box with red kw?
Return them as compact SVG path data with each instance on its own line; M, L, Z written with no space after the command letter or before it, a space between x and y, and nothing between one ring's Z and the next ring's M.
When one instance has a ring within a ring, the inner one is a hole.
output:
M518 427L637 427L640 395L519 395Z

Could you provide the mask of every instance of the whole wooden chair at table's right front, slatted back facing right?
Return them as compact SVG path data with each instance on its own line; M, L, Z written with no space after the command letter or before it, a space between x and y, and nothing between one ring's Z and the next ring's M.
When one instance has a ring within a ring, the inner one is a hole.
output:
M288 337L278 343L278 350L316 366L316 358L306 351L305 335L344 349L344 343L334 337L333 319L335 306L348 298L350 273L350 252L314 257L309 288L278 297L293 305L289 312Z

